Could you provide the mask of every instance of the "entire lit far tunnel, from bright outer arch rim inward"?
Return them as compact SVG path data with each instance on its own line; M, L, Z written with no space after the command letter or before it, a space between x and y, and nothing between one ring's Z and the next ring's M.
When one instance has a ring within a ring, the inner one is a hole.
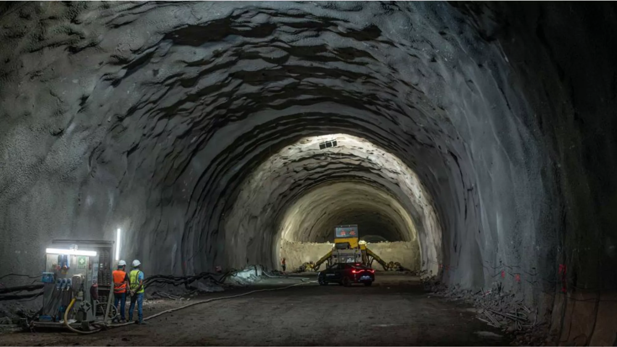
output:
M246 253L230 262L257 257L280 268L284 258L297 269L328 253L342 224L356 224L360 239L375 243L368 247L383 248L375 252L407 269L430 270L438 261L441 226L417 174L361 137L302 137L267 157L240 191L225 231L228 247Z

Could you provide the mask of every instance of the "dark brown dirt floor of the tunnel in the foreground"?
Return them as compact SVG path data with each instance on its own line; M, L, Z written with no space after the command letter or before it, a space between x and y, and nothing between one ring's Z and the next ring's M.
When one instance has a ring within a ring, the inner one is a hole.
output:
M252 288L191 300L297 282L268 279ZM186 301L148 301L144 316L183 304ZM9 346L503 346L508 342L476 319L473 308L426 293L416 277L397 274L377 274L372 287L304 284L198 304L150 319L147 325L93 335L0 335L0 345Z

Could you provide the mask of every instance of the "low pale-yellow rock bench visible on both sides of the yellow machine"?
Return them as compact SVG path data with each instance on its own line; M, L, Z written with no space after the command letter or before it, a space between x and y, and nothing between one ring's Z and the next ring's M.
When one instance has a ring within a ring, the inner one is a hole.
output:
M332 250L333 243L329 242L291 242L281 241L281 258L285 258L287 271L294 271L300 265L309 261L317 261L323 255ZM366 247L375 252L386 262L398 262L410 271L420 271L420 252L418 242L397 241L367 243ZM325 264L320 266L320 270ZM383 271L377 262L373 263L373 269Z

